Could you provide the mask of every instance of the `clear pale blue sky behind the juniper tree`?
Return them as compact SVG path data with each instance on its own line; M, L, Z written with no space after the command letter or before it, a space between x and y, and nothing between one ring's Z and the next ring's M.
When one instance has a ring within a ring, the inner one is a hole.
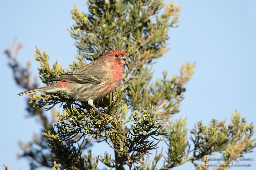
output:
M231 113L237 109L248 124L255 123L256 1L175 0L174 3L184 4L181 22L179 28L170 29L168 43L172 49L157 60L154 79L164 70L172 77L179 73L182 64L196 61L195 74L186 85L182 111L174 118L187 117L188 127L193 128L200 120L208 124L211 119L227 118L229 122ZM67 34L67 28L74 22L70 17L74 4L87 11L83 1L0 2L1 164L15 169L29 168L26 159L17 159L16 153L21 152L18 140L30 141L33 133L41 129L34 118L25 117L26 97L17 97L23 89L14 82L4 50L11 47L15 37L21 41L25 47L20 51L19 61L25 64L30 60L35 75L40 66L34 60L35 45L47 51L51 64L58 59L63 67L68 67L76 54L74 41ZM94 148L93 154L103 152ZM244 157L254 159L246 162L252 164L246 169L255 169L255 152ZM186 163L175 169L182 168L193 169L193 166Z

